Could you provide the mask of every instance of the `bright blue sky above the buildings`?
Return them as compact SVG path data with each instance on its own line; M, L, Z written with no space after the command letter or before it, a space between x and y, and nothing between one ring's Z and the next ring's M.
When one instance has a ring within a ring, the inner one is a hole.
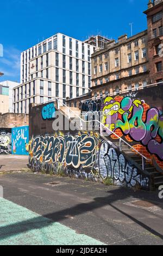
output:
M0 57L3 80L20 81L20 53L49 38L63 33L78 40L101 33L117 39L147 28L148 0L5 0L1 1L1 34L4 54Z

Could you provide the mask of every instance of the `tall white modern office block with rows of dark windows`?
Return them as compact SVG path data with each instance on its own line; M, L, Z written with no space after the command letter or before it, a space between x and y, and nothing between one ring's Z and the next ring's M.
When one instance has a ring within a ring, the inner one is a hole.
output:
M14 112L28 113L29 103L88 93L95 47L56 34L21 53L21 84L14 88Z

